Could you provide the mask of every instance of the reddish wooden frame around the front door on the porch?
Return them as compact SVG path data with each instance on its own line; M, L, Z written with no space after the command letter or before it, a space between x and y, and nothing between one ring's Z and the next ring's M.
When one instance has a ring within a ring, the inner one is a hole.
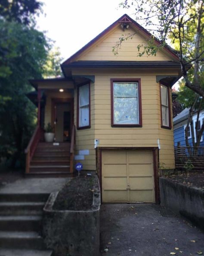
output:
M74 125L74 98L52 98L51 99L51 125L54 127L55 132L55 105L70 103L70 138L72 132L72 126Z

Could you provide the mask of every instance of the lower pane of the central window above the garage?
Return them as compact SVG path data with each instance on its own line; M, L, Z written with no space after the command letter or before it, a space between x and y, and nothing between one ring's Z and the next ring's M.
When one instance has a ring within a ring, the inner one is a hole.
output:
M114 97L114 124L138 124L138 99Z

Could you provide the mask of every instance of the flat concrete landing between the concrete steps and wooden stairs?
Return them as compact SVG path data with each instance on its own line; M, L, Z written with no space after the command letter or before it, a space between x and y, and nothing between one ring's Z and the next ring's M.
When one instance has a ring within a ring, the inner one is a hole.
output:
M56 192L70 178L23 178L0 188L0 194L48 194Z

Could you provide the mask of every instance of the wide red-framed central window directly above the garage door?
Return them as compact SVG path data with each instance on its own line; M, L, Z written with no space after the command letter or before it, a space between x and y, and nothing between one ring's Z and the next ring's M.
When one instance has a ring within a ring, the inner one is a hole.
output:
M111 79L111 125L142 126L139 79Z

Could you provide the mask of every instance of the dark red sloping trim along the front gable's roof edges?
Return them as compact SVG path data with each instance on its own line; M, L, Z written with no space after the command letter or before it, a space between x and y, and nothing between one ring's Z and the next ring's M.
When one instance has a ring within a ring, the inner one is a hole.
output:
M98 41L100 38L102 38L105 34L107 34L111 29L113 29L114 27L116 27L118 24L125 22L125 23L130 23L133 27L135 27L136 29L139 29L139 31L141 31L144 35L146 35L148 38L152 37L152 34L150 32L148 32L146 29L144 29L141 25L139 25L135 20L133 20L132 18L130 18L130 16L128 16L127 14L124 14L123 16L121 16L121 18L117 19L113 24L111 24L111 26L109 26L107 29L105 29L103 32L101 32L99 35L97 35L95 38L93 38L93 40L91 40L87 45L83 46L83 48L81 48L79 51L77 51L75 54L73 54L70 58L68 58L66 61L64 61L61 64L61 67L65 67L65 65L71 63L72 61L74 61L75 58L77 58L77 56L79 54L81 54L83 51L87 50L89 47L91 47L96 41ZM157 45L161 45L161 42L155 38L155 43ZM167 51L169 54L171 54L174 58L176 58L177 60L179 60L178 56L176 55L176 51L173 50L170 46L165 46L164 50Z

